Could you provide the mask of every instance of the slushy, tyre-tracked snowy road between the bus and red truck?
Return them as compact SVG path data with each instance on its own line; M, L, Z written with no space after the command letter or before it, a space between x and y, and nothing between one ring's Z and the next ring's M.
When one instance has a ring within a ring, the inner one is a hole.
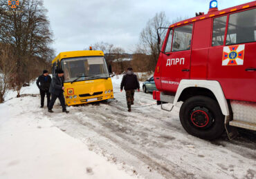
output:
M129 113L119 83L114 77L115 100L70 107L70 114L60 106L53 114L37 108L39 97L29 97L26 108L141 178L256 178L255 137L229 141L224 134L208 142L190 136L179 122L179 107L165 112L143 92L136 93L134 106L152 106Z

